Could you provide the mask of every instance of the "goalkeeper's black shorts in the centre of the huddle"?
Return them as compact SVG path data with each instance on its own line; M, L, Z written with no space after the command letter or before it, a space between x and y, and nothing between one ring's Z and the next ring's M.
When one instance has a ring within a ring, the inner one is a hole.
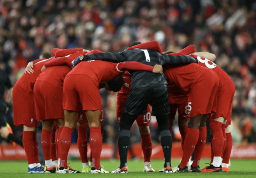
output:
M152 115L168 115L170 103L167 85L150 84L132 88L124 104L123 113L145 114L148 104L152 106Z

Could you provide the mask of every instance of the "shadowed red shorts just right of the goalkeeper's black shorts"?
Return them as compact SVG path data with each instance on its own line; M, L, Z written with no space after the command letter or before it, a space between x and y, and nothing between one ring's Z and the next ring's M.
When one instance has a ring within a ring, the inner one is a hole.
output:
M170 101L170 115L169 119L174 120L176 111L178 109L178 119L182 121L189 120L189 111L188 111L188 95L171 95L169 93L169 101Z

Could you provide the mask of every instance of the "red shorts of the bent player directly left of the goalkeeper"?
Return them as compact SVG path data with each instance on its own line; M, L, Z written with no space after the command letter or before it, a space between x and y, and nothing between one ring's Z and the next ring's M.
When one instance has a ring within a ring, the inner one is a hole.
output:
M79 112L80 105L83 111L102 110L98 84L87 75L67 75L63 87L63 109Z

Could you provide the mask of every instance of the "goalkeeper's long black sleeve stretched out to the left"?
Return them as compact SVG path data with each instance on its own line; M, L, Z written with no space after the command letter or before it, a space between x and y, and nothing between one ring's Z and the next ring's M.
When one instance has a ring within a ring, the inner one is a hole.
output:
M124 62L125 61L125 51L119 53L93 53L89 55L84 55L82 61L89 60L104 60L111 62Z

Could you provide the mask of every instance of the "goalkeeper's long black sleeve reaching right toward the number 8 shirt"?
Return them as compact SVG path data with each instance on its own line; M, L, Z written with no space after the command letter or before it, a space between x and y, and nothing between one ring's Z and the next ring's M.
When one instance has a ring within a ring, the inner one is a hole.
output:
M162 54L166 64L198 63L198 60L189 55L166 55Z

